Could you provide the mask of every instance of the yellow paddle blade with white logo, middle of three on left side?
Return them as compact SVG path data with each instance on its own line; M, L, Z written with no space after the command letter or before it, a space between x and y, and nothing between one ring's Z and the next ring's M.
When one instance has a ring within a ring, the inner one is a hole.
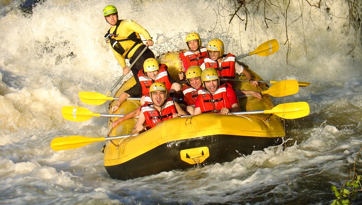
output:
M82 122L91 119L92 117L99 117L99 113L93 113L92 111L81 108L65 106L62 108L62 115L64 119L75 122Z

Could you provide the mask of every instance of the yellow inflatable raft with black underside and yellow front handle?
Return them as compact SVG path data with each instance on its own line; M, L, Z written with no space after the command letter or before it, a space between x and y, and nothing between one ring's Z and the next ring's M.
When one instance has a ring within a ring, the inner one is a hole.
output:
M159 57L161 63L168 65L169 73L175 79L179 72L178 56L178 52L170 52ZM254 72L250 73L254 79L261 80ZM240 79L246 78L241 76ZM119 96L134 83L132 77L121 86L115 96ZM235 88L257 92L268 89L266 84L261 83L254 87L245 81L235 82ZM115 101L111 103L114 104ZM269 95L263 95L262 99L253 96L241 97L239 104L242 111L270 110L274 107ZM138 101L127 100L115 114L126 114L139 106ZM115 128L112 128L110 122L109 136L129 135L135 122L136 119L129 119ZM274 114L205 113L173 118L142 134L107 141L104 166L111 177L127 180L197 165L231 161L249 155L254 150L280 144L284 136L283 121Z

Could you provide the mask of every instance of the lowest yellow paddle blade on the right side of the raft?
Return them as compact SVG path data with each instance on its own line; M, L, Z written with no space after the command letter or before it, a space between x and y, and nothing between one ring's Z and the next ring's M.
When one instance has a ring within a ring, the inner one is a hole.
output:
M307 102L284 103L275 106L271 110L264 110L265 114L275 114L284 119L305 117L309 112L310 110Z

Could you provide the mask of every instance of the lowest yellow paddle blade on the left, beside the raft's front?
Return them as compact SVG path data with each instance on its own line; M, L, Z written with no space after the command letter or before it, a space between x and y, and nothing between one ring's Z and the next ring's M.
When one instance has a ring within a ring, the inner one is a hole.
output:
M100 142L100 141L105 141L105 138L104 137L90 138L82 136L58 137L54 138L50 142L50 147L54 151L60 151L67 149L75 149L90 144L92 142Z

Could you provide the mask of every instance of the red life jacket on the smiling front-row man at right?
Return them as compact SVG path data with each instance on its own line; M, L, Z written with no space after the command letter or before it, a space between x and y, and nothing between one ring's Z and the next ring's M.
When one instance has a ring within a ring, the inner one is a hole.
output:
M226 87L228 86L230 87L228 84L220 85L214 95L211 95L206 89L198 90L198 101L201 112L220 111L223 107L231 109L231 103L226 93Z

